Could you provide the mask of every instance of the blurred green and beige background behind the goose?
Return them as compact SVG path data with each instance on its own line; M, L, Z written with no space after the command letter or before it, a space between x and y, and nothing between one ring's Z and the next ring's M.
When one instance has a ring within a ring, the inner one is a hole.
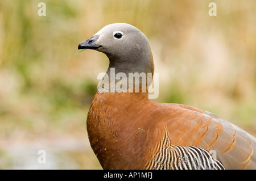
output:
M101 169L86 116L108 58L79 43L110 23L148 37L155 102L213 113L256 135L256 1L0 2L0 169ZM210 2L217 16L209 16ZM38 150L46 164L38 163Z

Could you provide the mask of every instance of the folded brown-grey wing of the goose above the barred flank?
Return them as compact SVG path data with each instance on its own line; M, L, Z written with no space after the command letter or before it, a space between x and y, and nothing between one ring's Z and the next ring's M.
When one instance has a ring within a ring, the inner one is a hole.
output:
M172 145L215 150L226 169L256 169L256 139L213 113L171 104L178 116L167 121Z

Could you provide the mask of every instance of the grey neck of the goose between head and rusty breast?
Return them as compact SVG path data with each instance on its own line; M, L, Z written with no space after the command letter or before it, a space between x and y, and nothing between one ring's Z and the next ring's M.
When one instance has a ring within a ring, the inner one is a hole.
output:
M154 73L152 56L130 60L109 59L109 68L98 85L98 92L148 92Z

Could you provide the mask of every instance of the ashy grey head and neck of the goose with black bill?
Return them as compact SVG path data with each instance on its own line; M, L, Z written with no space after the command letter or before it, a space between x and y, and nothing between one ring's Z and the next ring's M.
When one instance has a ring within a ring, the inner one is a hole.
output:
M137 74L137 77L134 78L139 80L142 79L140 76L143 74L154 74L154 61L148 39L138 28L130 24L109 24L89 39L80 43L79 49L94 49L108 56L109 68L101 83L101 85L104 85L102 86L104 89L110 89L109 86L106 86L106 83L110 83L111 81L120 83L120 79L115 79L111 76L113 68L115 75L122 73L127 78L130 73L138 73L139 75ZM115 75L114 77L116 77ZM106 79L108 77L112 79ZM123 85L129 85L132 82L133 87L137 85L148 87L151 84L152 76L147 77L144 83L143 81L139 81L139 83L135 84L136 81L129 81L130 79L127 79L127 82L123 83ZM123 87L122 89L126 90L127 87Z

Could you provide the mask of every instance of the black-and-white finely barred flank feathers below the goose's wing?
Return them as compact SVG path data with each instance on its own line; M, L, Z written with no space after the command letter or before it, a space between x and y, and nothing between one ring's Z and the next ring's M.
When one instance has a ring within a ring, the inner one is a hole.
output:
M196 146L172 146L168 132L163 141L156 145L156 153L146 165L146 169L168 170L224 170L220 161L214 159L210 151Z

